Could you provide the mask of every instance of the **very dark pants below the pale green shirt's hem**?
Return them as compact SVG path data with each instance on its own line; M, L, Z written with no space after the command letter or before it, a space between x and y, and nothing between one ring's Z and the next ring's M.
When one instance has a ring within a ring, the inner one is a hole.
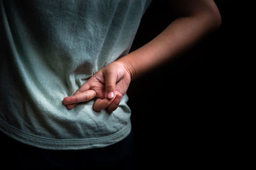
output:
M90 150L45 150L2 132L0 140L3 169L132 169L132 132L114 145Z

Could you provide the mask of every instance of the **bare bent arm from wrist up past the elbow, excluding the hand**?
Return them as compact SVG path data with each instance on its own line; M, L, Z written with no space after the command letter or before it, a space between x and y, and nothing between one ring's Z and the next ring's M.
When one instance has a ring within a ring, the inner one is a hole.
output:
M220 13L214 1L179 0L170 3L180 17L152 41L118 60L127 66L132 78L186 50L221 24Z

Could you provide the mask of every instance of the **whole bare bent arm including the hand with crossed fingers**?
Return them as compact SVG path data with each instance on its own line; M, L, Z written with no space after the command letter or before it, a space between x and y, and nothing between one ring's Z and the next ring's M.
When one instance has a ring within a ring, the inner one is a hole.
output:
M94 110L115 110L132 78L186 50L221 24L213 0L171 0L170 4L179 13L179 18L146 45L100 69L73 96L65 97L63 104L72 109L76 103L97 97Z

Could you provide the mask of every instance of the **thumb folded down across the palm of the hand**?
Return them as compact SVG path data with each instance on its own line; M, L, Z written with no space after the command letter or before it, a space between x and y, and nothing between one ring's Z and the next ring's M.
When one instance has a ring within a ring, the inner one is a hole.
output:
M115 97L116 72L107 69L104 78L107 97L113 99Z

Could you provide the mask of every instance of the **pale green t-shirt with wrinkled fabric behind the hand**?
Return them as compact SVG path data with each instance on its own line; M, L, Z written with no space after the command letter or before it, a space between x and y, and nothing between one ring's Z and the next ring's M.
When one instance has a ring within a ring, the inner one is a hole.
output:
M62 101L99 69L126 55L150 1L1 0L0 130L39 148L112 145L131 131L125 94L118 108Z

